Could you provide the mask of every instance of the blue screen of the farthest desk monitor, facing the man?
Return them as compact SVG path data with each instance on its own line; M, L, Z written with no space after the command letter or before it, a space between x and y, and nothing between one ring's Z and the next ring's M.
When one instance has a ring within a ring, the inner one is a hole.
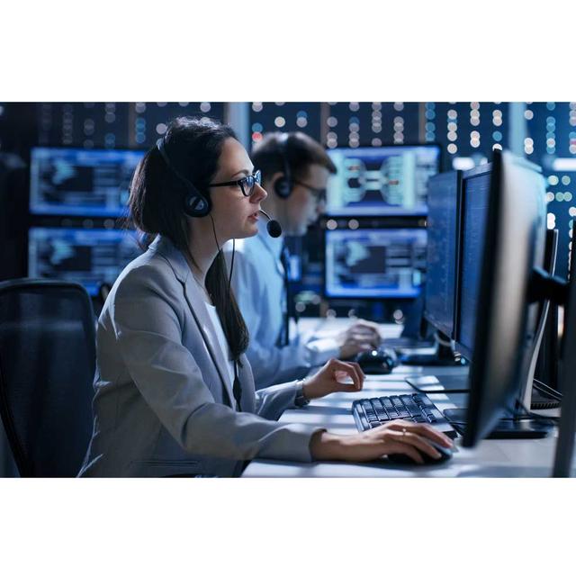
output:
M428 251L425 318L454 338L456 262L458 250L459 172L428 180Z

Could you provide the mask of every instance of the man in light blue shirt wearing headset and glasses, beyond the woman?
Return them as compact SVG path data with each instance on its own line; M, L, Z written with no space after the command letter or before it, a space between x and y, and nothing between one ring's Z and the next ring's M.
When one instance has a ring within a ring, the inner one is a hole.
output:
M283 230L266 233L266 220L254 238L236 243L232 284L250 335L247 357L257 389L307 374L331 357L352 358L377 347L377 325L359 320L334 338L290 330L289 255L284 236L304 236L324 209L326 186L336 166L318 142L302 132L274 132L254 147L252 162L262 172L268 197L262 206ZM225 247L228 260L231 245Z

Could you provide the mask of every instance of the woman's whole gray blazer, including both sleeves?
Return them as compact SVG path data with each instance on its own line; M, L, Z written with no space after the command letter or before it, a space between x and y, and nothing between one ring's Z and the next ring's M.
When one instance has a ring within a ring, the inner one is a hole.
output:
M96 333L94 431L81 476L234 476L256 456L310 462L318 429L275 420L295 383L255 392L241 357L242 412L227 359L182 253L158 237L121 273Z

